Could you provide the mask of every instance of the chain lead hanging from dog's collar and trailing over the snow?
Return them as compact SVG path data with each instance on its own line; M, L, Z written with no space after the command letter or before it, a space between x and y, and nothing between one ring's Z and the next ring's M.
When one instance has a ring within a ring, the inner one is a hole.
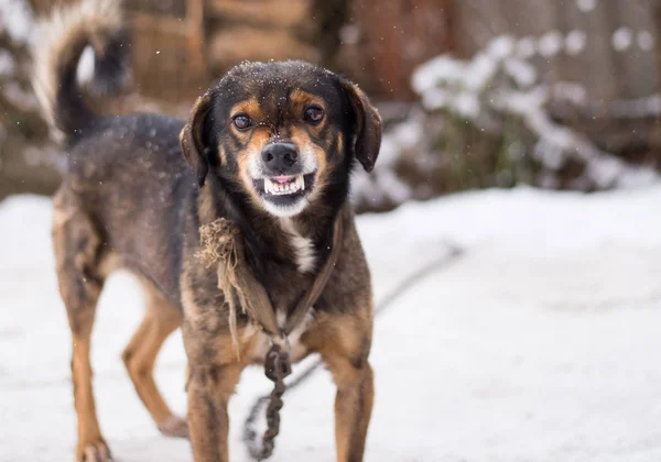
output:
M464 254L464 250L451 244L449 254L434 258L430 263L422 265L411 275L400 282L393 289L391 289L386 296L379 301L375 308L375 317L379 316L388 308L390 308L394 301L401 297L405 292L410 290L418 283L423 280L426 276L430 276L436 271L454 263ZM257 398L248 417L243 422L243 443L248 448L248 453L256 461L262 461L269 459L273 453L273 440L280 429L280 409L282 408L282 395L285 389L296 388L299 385L307 381L316 371L323 365L323 361L316 360L314 363L307 366L302 373L300 373L294 380L290 381L289 384L284 383L284 377L290 375L291 369L289 365L289 356L286 358L286 366L283 371L277 367L281 367L279 364L279 358L281 354L286 354L280 351L280 346L274 344L271 346L267 355L267 360L271 360L271 364L267 363L267 371L274 371L269 373L267 376L275 384L273 392L269 395L263 395ZM268 404L267 408L267 425L268 429L264 432L261 444L258 441L258 431L254 428L257 417L261 414L263 407Z

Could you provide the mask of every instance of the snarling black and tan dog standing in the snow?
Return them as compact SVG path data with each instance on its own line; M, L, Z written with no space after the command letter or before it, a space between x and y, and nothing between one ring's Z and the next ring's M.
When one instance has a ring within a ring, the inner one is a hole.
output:
M67 158L53 241L73 337L76 460L110 458L89 349L112 271L131 271L147 295L144 319L123 352L144 406L163 433L189 435L196 461L227 461L228 400L241 371L263 361L269 339L239 312L237 359L217 273L195 256L199 228L219 217L236 223L250 270L283 322L327 258L333 223L345 213L335 270L289 340L294 361L313 352L325 361L337 385L337 460L361 461L373 399L372 294L345 205L354 165L370 170L377 160L376 109L350 81L285 62L235 67L197 100L186 123L148 113L102 117L82 97L78 61L91 45L98 68L112 69L121 24L116 0L85 0L46 22L47 38L35 50L35 89ZM172 415L152 376L159 349L180 326L187 421Z

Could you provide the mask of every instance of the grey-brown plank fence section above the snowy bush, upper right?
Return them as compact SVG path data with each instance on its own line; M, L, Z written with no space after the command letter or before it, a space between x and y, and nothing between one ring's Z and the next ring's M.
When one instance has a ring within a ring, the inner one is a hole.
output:
M655 0L462 0L456 4L458 55L470 56L494 36L508 34L519 40L522 53L530 53L545 81L582 84L590 101L643 98L659 91Z

